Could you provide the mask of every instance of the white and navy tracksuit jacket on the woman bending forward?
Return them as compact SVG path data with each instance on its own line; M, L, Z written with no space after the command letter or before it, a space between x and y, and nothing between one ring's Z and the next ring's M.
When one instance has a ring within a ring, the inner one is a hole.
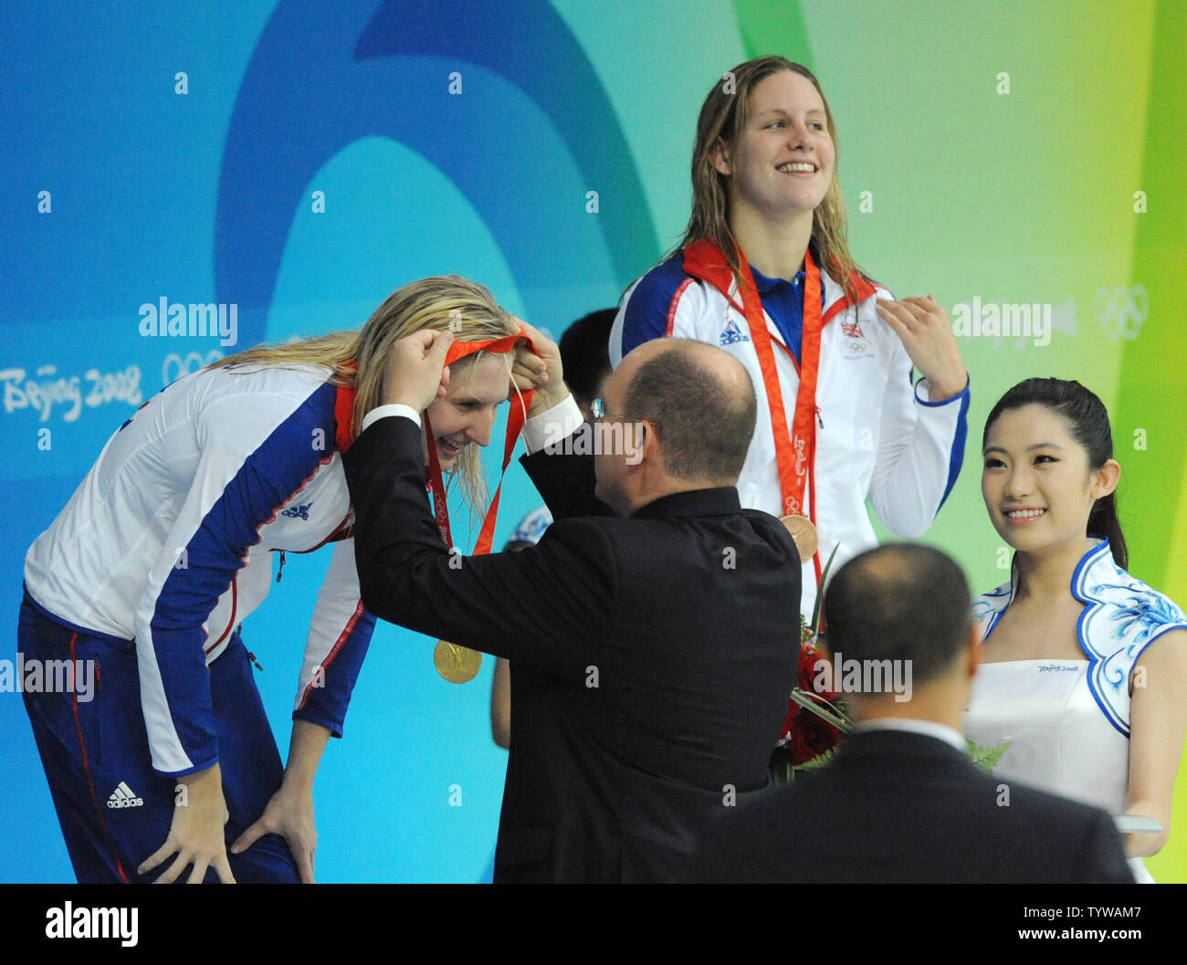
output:
M375 620L355 570L323 367L217 369L167 386L108 440L30 547L25 586L51 618L135 640L153 767L217 761L207 666L264 599L269 551L337 542L309 630L294 718L341 734Z

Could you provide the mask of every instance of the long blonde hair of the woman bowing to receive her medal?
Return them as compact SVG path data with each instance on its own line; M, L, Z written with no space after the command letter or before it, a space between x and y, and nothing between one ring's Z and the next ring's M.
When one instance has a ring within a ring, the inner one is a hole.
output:
M380 404L383 362L392 345L423 329L451 331L459 342L484 342L515 331L510 315L499 306L485 287L459 275L436 275L410 281L392 292L358 331L337 331L296 342L256 345L220 358L207 369L325 366L331 372L330 382L355 389L351 431L357 436L363 415ZM481 355L468 356L463 363L477 361ZM506 358L509 377L512 356ZM463 499L471 512L483 513L487 484L477 446L468 445L462 450L451 475L459 481Z

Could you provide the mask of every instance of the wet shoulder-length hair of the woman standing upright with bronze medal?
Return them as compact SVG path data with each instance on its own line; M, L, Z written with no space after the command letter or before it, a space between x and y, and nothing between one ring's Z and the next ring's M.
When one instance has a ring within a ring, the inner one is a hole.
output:
M697 119L697 139L692 150L692 215L679 247L685 248L705 237L725 255L735 273L741 269L737 242L730 231L729 177L713 165L713 155L719 142L734 144L749 120L750 95L762 81L773 74L789 70L807 77L824 102L825 119L833 150L839 157L837 127L829 108L829 99L820 89L820 82L802 64L786 57L757 57L738 64L713 84L700 107ZM849 253L849 226L845 220L845 199L837 179L837 163L833 163L832 180L824 201L812 215L812 241L820 258L820 267L829 272L856 299L852 273L864 277L853 256Z

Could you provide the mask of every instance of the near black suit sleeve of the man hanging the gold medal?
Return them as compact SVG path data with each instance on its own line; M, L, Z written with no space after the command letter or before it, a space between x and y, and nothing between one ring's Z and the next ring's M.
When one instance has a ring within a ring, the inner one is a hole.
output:
M451 554L425 493L420 428L387 417L343 457L355 509L363 605L472 649L583 674L605 640L616 592L610 539L596 522L553 523L521 553Z

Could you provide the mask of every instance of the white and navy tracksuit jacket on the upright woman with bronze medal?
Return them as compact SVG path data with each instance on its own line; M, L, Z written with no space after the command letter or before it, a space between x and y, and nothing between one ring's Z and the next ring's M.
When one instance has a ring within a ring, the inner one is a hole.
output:
M813 522L824 563L839 544L832 572L876 545L867 514L869 500L878 519L900 537L915 539L931 526L956 483L964 458L969 388L944 402L927 401L929 386L912 386L912 363L894 330L875 310L882 287L865 288L855 309L840 285L820 273L825 325L817 382L817 455L805 504L815 489ZM876 291L876 296L872 293ZM741 305L736 282L730 298ZM783 337L766 315L774 348L787 424L795 415L799 375ZM745 316L725 294L685 271L678 252L623 294L610 335L610 362L650 338L673 336L719 345L745 366L758 396L758 420L738 478L742 506L782 515L779 468L758 356ZM823 425L821 425L823 424ZM807 514L806 514L807 515ZM801 609L811 615L817 580L804 566Z

